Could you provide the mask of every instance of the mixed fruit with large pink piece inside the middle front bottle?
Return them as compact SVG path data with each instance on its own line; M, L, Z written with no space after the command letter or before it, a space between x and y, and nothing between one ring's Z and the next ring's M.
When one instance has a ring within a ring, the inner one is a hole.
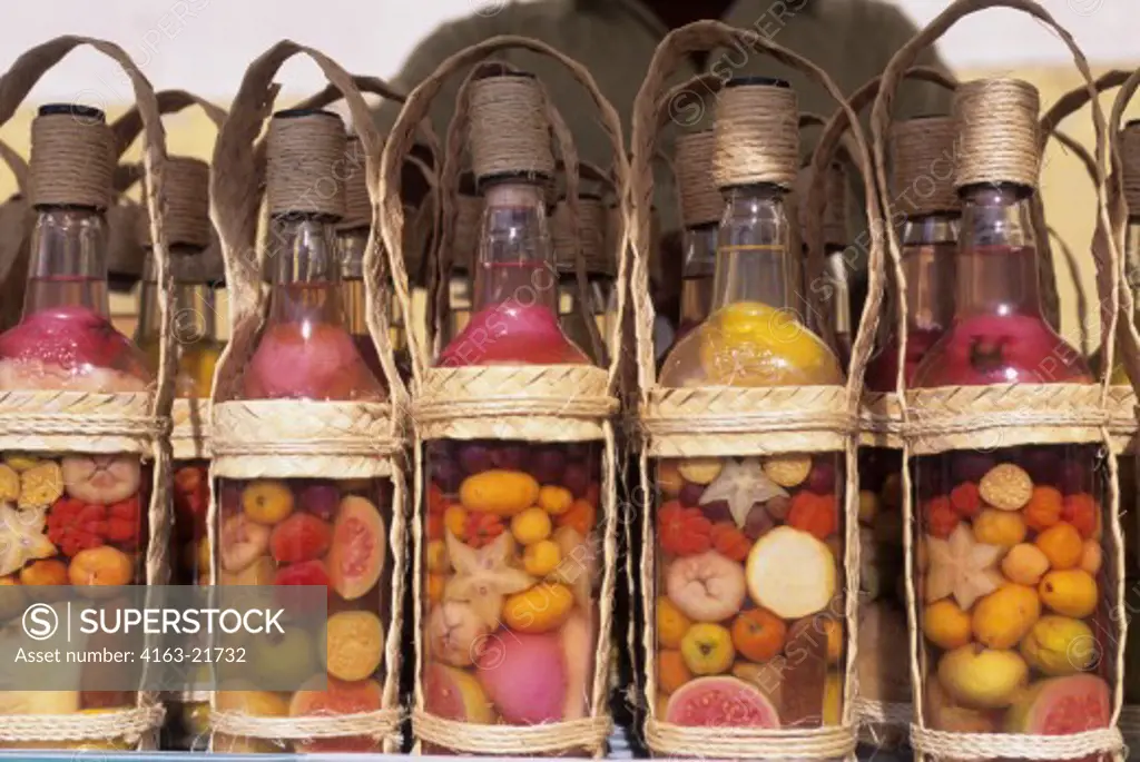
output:
M426 710L479 724L589 716L601 445L472 440L426 450Z

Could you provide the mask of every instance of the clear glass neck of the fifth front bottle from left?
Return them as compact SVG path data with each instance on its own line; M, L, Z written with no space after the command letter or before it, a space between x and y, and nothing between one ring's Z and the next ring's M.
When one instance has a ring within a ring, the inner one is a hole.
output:
M1033 190L1000 185L964 188L954 312L1041 317L1037 252L1029 215Z

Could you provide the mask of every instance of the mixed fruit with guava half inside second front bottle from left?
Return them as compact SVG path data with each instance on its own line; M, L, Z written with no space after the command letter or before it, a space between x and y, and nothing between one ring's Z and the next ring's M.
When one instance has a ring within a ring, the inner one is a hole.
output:
M318 585L328 595L324 663L311 637L291 629L251 653L246 664L226 665L219 708L275 718L380 710L391 617L391 483L221 478L218 494L220 584ZM267 680L300 688L256 689ZM293 744L222 738L214 746L230 752L282 752L291 746L310 753L381 751L380 741L369 737Z

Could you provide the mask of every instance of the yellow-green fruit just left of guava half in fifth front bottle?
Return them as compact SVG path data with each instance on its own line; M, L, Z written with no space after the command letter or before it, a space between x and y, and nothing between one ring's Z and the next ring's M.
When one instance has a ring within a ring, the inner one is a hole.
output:
M938 681L958 704L995 710L1009 706L1025 685L1029 667L1013 650L970 644L938 662Z

